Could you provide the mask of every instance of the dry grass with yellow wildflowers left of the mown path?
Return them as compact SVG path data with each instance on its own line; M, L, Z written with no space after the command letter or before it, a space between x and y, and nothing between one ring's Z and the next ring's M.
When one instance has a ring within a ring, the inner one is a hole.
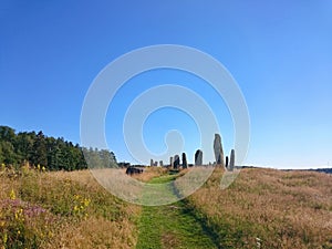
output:
M8 170L0 173L0 248L135 247L139 207L112 196L89 170L25 172L14 176ZM9 200L20 206L8 211L4 204ZM50 214L33 217L33 227L25 215L31 205ZM23 215L18 219L21 209Z

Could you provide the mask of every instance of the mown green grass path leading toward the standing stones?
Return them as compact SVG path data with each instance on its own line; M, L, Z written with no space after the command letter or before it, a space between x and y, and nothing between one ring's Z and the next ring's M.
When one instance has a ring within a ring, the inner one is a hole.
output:
M152 184L173 180L176 176L160 176ZM165 186L169 195L176 195L174 187ZM144 206L138 221L137 249L154 248L218 248L214 236L201 224L185 201L172 205Z

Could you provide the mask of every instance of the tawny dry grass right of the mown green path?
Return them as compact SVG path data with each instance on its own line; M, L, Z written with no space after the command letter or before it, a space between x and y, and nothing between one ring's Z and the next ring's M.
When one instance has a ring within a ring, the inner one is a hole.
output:
M225 247L332 248L332 175L242 169L221 190L221 174L216 169L189 203Z

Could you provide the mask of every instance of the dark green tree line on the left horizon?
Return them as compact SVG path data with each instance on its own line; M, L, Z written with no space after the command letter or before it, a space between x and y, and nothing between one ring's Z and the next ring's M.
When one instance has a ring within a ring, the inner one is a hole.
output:
M29 163L48 170L76 170L91 167L116 167L116 157L107 149L84 148L63 137L42 132L20 132L0 126L0 165L19 167Z

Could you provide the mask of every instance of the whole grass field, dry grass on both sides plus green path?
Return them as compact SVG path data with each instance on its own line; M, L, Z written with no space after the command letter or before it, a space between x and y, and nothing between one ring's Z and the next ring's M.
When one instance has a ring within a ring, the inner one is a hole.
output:
M0 248L332 248L332 175L222 169L188 198L141 207L108 194L89 170L0 172ZM159 168L135 176L166 183ZM169 195L176 184L165 188Z

